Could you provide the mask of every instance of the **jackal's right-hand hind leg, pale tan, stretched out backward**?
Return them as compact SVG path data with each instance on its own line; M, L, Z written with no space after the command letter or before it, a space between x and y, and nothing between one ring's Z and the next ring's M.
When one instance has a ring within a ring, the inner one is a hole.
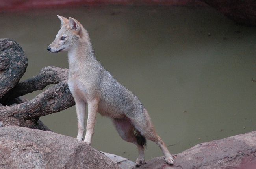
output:
M167 149L167 146L163 142L163 140L156 134L156 130L154 125L152 124L148 112L146 109L143 109L143 113L140 117L131 119L135 127L141 132L145 138L155 142L160 149L163 151L165 156L165 161L168 165L173 165L174 160L173 156ZM143 122L143 123L141 123Z

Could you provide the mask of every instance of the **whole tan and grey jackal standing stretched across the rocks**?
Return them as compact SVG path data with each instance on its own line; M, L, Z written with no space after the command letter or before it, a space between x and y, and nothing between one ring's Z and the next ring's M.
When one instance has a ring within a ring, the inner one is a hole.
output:
M135 165L145 163L144 145L146 139L159 145L165 155L165 161L173 165L173 157L166 145L156 134L147 110L139 99L119 84L111 74L102 67L93 54L87 31L74 18L58 16L61 29L56 39L47 48L50 52L67 51L69 60L69 89L76 102L78 118L77 139L83 140L85 109L88 104L85 143L90 145L96 114L112 119L119 136L138 147Z

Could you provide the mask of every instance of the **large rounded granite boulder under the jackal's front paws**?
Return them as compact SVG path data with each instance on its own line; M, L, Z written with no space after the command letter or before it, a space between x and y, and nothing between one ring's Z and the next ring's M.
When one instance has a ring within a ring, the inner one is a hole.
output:
M75 138L24 127L0 127L1 169L121 169Z

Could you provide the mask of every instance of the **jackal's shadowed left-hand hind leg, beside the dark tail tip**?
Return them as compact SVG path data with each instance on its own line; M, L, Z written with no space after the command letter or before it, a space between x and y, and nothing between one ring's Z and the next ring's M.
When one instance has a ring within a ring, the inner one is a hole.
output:
M125 119L113 119L113 123L117 129L119 136L130 143L134 143L138 147L138 158L135 162L136 167L139 167L141 164L145 164L145 155L144 155L144 144L138 143L138 140L134 133L134 125L128 120ZM139 133L140 134L140 133Z

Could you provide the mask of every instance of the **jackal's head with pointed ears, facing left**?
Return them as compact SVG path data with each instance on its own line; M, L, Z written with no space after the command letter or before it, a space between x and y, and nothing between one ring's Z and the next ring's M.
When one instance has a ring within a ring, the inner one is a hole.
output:
M87 31L76 19L57 16L61 21L61 29L52 44L47 47L47 50L50 52L70 51L76 48Z

